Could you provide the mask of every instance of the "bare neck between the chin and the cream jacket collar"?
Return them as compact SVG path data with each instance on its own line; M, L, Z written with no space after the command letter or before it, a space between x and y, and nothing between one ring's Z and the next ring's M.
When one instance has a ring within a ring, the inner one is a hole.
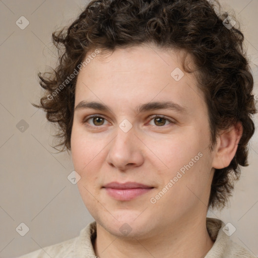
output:
M111 235L97 223L97 238L93 243L100 258L203 258L212 248L205 217L176 221L160 228L147 238L120 238Z

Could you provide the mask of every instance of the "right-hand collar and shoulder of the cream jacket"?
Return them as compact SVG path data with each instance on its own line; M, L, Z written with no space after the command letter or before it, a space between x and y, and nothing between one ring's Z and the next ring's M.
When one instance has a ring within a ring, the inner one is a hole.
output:
M215 242L205 258L256 258L250 251L230 239L225 233L228 229L223 221L207 218L206 225L211 239Z

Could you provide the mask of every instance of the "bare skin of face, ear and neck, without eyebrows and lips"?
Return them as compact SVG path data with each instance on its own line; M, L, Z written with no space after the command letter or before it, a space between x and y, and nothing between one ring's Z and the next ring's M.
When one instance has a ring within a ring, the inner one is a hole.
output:
M74 167L81 176L79 191L97 222L93 246L100 258L201 258L213 246L206 215L214 168L229 164L242 131L240 124L233 125L210 151L208 110L194 75L184 72L179 81L170 76L175 68L183 71L182 53L155 45L116 49L98 54L78 75L75 107L81 101L109 107L76 109L71 137ZM153 101L173 101L186 112L136 111ZM93 114L100 118L88 119ZM127 133L119 127L124 119L133 126ZM202 157L151 203L198 153ZM112 181L154 188L131 201L118 201L103 188ZM132 230L127 235L119 230L124 223Z

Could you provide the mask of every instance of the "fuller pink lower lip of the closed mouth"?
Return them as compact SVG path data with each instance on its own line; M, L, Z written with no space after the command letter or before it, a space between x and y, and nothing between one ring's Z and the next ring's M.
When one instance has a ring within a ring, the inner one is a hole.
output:
M108 195L118 201L130 201L144 193L152 190L153 188L132 188L132 189L114 189L105 188Z

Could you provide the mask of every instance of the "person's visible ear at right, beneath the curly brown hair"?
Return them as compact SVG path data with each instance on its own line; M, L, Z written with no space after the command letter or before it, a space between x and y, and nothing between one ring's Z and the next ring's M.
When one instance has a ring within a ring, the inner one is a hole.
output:
M222 132L217 139L214 159L212 166L220 169L229 166L234 158L238 143L243 134L243 126L241 122L232 125L228 130Z

